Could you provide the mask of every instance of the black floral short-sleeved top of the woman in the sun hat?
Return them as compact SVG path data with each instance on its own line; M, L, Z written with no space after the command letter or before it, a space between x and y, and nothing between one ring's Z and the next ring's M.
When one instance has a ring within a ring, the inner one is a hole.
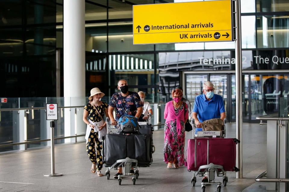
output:
M101 117L98 115L95 108L92 106L92 104L88 103L84 106L84 109L88 112L88 118L92 122L100 122L101 119L104 117L104 111L107 109L108 105L104 101L102 101L102 104L100 106L95 106L98 110L98 113L101 115Z

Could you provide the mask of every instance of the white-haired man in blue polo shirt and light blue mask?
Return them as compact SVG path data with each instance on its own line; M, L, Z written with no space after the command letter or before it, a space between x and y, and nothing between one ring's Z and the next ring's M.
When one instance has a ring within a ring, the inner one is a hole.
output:
M209 119L226 118L223 98L214 94L213 83L206 81L203 84L203 95L198 95L193 108L193 119L197 125L196 131L202 131L202 122Z

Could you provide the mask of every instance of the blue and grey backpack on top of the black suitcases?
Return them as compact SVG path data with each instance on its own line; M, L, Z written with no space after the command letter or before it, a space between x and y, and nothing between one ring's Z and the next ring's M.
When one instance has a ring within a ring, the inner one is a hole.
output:
M117 123L117 134L135 133L139 131L138 119L135 116L121 116Z

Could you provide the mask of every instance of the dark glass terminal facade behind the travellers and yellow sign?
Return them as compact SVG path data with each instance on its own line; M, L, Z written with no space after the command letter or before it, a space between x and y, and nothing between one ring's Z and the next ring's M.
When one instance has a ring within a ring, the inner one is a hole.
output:
M201 93L199 82L207 79L218 84L227 113L235 119L235 42L132 44L132 6L173 2L181 1L85 1L86 96L93 87L112 95L117 80L124 78L130 90L146 92L150 101L170 100L178 85L186 86L186 97L193 101ZM63 0L1 1L0 7L5 87L0 97L56 96L56 51L63 86ZM266 113L259 101L264 78L282 76L283 85L289 74L289 2L241 0L241 28L243 116L250 120Z

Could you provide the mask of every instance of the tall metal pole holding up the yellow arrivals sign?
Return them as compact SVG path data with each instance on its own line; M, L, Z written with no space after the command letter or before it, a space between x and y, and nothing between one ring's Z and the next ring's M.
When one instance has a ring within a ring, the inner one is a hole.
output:
M236 136L241 141L237 145L237 162L240 169L236 178L243 178L243 136L242 136L242 41L241 41L241 0L236 0L236 41L235 41L235 59L236 59Z

